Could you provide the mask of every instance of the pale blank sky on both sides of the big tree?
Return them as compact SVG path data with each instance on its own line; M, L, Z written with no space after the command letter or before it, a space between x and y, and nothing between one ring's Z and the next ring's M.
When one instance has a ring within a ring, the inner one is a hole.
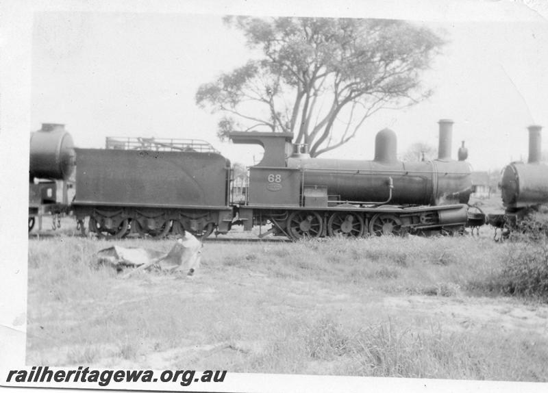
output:
M351 143L323 157L371 160L375 134L385 127L396 132L399 153L414 142L437 147L437 122L450 118L454 158L465 140L476 170L526 160L526 127L548 127L548 23L527 8L493 16L413 21L447 41L423 74L434 94L406 110L377 112ZM221 114L195 103L201 84L250 56L242 34L220 14L37 13L32 131L64 123L77 147L97 148L106 136L200 138L233 162L253 164L261 149L221 143Z

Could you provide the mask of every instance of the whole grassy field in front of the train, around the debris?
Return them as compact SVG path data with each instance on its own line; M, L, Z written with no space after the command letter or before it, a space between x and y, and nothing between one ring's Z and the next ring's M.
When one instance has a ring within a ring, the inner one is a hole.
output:
M171 242L121 241L159 250ZM127 280L96 266L93 254L108 246L29 242L27 362L548 381L545 336L460 316L498 307L508 322L508 310L528 308L542 320L542 298L508 291L521 242L208 243L194 279Z

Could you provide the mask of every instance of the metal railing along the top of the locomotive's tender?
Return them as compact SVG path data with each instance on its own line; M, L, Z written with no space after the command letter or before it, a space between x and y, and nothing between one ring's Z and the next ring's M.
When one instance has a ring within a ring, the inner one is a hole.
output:
M108 136L105 149L147 150L147 151L197 151L219 153L212 145L201 139L140 138Z

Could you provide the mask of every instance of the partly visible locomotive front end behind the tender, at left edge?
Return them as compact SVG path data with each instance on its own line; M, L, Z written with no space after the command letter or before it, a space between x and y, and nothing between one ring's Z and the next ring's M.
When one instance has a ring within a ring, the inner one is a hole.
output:
M60 214L69 207L69 181L75 166L71 135L62 124L45 123L30 136L29 231L36 218Z

